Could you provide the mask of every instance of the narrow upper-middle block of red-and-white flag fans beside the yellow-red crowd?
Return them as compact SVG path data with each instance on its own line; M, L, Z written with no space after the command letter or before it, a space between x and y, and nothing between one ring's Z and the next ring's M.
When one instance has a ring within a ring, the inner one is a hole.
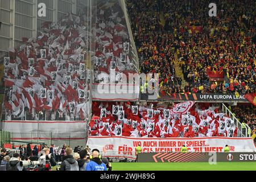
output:
M123 75L138 73L130 51L125 16L118 3L97 10L94 82L122 82ZM110 77L110 72L113 77Z

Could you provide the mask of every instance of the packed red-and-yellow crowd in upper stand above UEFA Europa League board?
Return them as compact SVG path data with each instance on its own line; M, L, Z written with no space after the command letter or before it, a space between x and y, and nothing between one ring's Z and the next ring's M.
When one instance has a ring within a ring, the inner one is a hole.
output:
M141 72L159 73L163 93L255 93L255 1L216 4L217 17L209 17L207 1L129 1ZM224 82L210 81L207 71L223 71Z

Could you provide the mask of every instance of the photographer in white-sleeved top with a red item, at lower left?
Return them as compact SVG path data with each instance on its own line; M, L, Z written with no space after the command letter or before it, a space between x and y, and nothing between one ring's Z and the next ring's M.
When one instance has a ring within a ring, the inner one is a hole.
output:
M52 166L56 166L56 161L52 157L52 154L50 154L49 148L43 149L43 155L40 156L38 161L42 164L39 171L49 171Z

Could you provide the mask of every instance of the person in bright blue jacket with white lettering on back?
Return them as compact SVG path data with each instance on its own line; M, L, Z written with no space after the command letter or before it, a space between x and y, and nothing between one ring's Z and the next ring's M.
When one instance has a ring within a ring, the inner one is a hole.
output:
M106 164L102 163L100 151L92 150L92 160L86 165L86 171L106 171Z

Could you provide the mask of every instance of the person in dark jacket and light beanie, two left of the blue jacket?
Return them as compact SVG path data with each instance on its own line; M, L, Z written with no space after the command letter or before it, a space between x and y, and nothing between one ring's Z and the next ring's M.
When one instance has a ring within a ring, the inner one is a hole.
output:
M65 153L66 155L63 156L60 171L79 171L79 165L72 155L73 150L68 147L66 148Z

